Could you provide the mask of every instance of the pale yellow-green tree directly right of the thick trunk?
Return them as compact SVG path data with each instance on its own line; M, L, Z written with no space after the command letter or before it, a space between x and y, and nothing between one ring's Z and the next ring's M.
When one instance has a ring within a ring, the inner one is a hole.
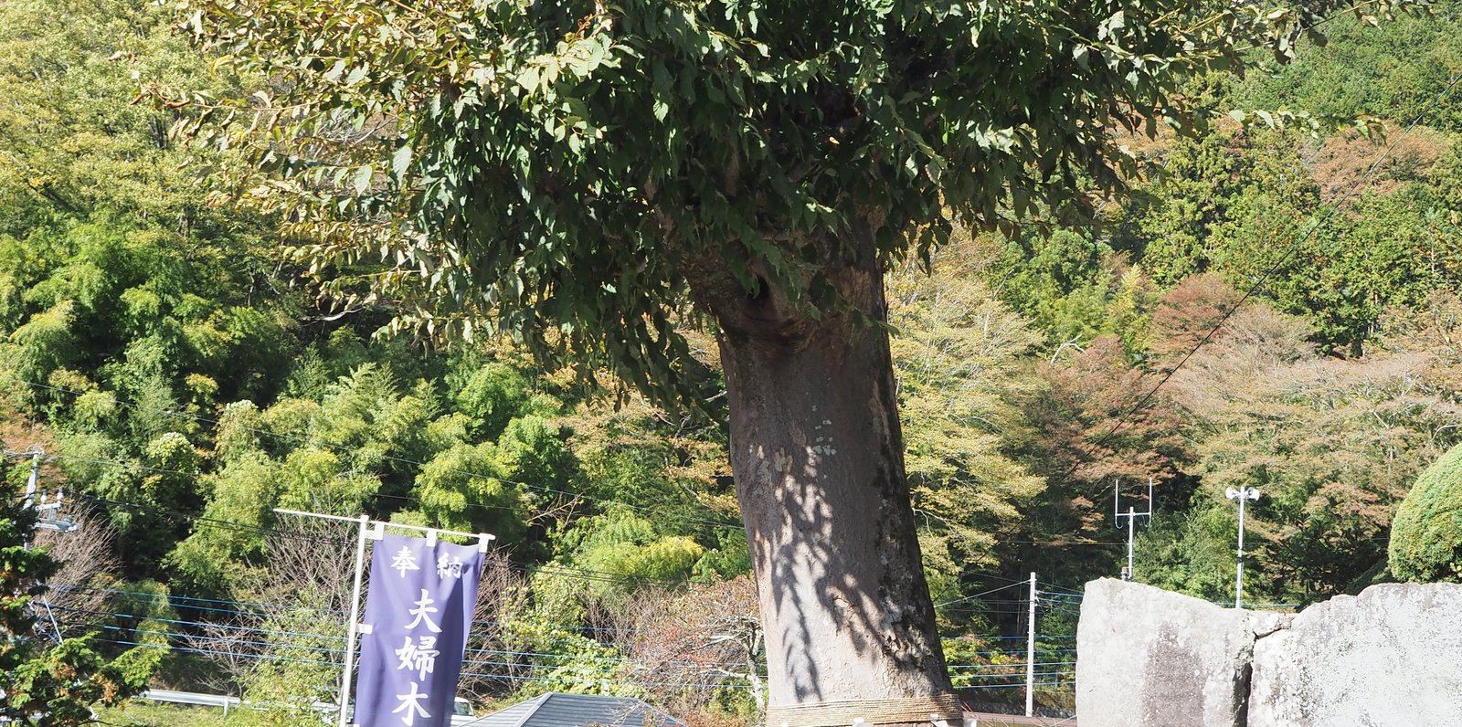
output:
M937 601L959 599L966 569L999 561L996 542L1045 488L1009 447L1025 428L1016 401L1037 384L1022 359L1038 340L984 288L974 253L952 245L930 274L889 280L905 467Z

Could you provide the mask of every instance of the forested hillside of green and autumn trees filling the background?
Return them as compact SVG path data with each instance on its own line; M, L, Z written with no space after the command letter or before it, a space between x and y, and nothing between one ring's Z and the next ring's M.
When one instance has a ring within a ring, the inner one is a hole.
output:
M687 330L702 400L671 412L510 340L431 347L386 330L386 302L333 305L281 220L209 196L230 150L139 101L244 83L173 22L149 0L0 3L4 482L35 461L79 524L39 536L67 561L45 623L155 653L154 686L273 705L228 724L310 724L291 699L335 698L354 531L273 508L367 514L497 536L463 669L478 705L563 691L750 720L712 334ZM1218 121L1133 139L1151 171L1127 194L961 231L889 276L920 542L969 699L1022 699L1035 572L1038 699L1070 705L1082 584L1127 565L1118 492L1151 507L1142 582L1232 599L1227 488L1263 493L1246 601L1396 577L1392 518L1462 442L1462 3L1329 34L1192 89Z

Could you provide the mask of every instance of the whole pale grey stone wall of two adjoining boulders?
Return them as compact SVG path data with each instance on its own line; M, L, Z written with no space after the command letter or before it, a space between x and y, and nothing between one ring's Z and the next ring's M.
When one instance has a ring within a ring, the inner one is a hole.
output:
M1082 727L1462 726L1462 585L1382 584L1298 615L1110 578L1076 629Z

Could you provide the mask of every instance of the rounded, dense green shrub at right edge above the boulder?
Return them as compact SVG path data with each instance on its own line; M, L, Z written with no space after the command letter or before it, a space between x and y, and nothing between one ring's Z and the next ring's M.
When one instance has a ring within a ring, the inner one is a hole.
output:
M1396 578L1462 582L1462 445L1417 477L1396 508L1389 553Z

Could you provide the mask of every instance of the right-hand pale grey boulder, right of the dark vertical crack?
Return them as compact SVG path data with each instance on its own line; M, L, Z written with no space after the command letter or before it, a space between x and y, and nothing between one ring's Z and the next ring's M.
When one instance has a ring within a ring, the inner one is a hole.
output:
M1251 682L1249 727L1462 724L1462 585L1382 584L1311 606L1256 642Z

